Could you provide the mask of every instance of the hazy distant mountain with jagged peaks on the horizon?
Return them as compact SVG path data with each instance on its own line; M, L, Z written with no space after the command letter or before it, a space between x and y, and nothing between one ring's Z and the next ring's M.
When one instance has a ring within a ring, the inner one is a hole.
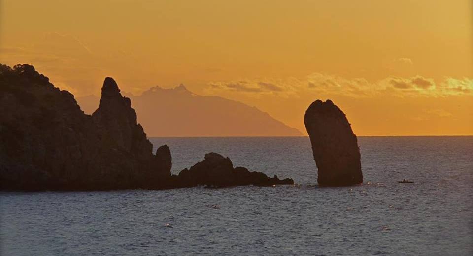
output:
M173 89L156 86L139 96L126 96L148 137L302 135L256 107L218 96L199 96L184 85ZM99 106L98 96L76 99L88 114Z

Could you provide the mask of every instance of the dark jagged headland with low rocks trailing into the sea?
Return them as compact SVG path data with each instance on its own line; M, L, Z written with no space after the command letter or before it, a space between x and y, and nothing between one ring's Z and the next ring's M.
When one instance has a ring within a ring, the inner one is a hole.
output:
M205 176L228 174L229 169L214 168L221 162L215 160L191 168L190 178L171 176L169 147L152 153L130 99L110 77L101 91L99 108L86 115L72 94L33 66L0 64L0 190L169 189L188 187L191 179L220 187L280 182L233 169L229 159L233 181Z

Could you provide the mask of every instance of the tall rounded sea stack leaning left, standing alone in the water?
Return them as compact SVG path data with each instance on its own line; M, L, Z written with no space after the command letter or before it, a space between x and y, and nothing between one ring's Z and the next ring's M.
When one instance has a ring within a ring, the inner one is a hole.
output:
M316 100L305 111L304 124L312 144L319 185L362 183L360 149L345 114L329 99Z

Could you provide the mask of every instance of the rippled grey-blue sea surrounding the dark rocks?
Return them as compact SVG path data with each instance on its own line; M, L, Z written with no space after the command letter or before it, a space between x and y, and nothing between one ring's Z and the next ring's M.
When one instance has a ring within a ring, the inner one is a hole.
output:
M151 141L174 173L214 151L297 185L1 192L1 255L473 255L473 137L361 137L364 184L340 188L306 137Z

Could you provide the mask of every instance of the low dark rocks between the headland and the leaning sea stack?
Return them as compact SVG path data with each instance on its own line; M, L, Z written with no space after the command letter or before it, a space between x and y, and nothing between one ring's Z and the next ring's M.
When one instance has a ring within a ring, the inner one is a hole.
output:
M182 170L173 176L177 187L194 187L205 185L212 188L229 186L272 186L276 184L294 184L292 179L280 180L274 175L269 178L261 172L250 172L244 167L233 167L229 158L217 153L205 154L205 159L190 169Z

